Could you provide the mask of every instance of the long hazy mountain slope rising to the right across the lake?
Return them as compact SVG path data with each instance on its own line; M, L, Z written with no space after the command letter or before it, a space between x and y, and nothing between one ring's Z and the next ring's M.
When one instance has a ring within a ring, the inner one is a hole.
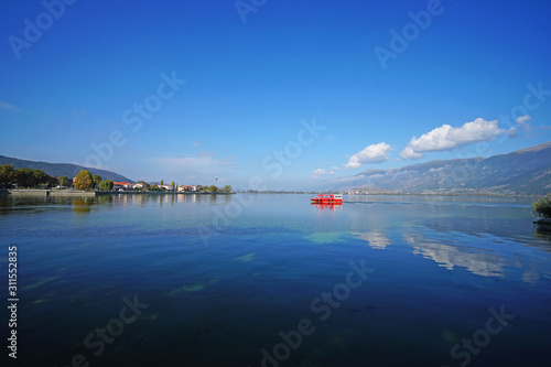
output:
M324 181L318 190L401 193L551 192L551 142L490 158L439 160L391 170L367 170Z

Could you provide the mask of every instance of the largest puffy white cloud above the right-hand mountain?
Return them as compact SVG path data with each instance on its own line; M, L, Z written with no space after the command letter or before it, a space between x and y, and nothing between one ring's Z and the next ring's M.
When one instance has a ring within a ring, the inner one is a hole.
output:
M498 120L487 121L483 118L465 122L461 128L443 125L423 133L419 139L411 138L400 155L403 159L419 159L426 152L450 151L479 141L490 141L506 132L514 133L514 131L499 129Z

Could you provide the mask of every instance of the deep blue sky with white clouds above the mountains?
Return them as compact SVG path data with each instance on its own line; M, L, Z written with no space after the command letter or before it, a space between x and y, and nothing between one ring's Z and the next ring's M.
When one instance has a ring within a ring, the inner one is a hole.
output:
M0 4L2 155L302 188L551 140L549 1L65 1Z

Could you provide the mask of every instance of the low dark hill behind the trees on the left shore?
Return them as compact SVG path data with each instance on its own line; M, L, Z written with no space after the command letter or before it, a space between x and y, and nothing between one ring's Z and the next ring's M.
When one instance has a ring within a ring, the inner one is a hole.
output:
M82 165L71 164L71 163L35 162L35 161L18 160L15 158L0 155L0 164L12 164L14 170L18 170L21 168L43 170L45 173L47 173L52 176L58 177L62 175L66 175L69 179L73 179L74 176L76 176L76 174L79 171L87 170L91 174L99 174L101 176L101 179L104 179L104 180L112 180L112 181L117 181L117 182L126 181L126 182L133 183L132 180L125 177L118 173L111 172L111 171L84 168Z

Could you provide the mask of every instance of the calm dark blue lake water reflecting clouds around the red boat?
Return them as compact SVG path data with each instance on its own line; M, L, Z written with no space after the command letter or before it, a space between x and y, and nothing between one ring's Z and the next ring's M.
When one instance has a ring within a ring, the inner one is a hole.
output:
M530 198L310 197L0 196L17 365L551 365Z

